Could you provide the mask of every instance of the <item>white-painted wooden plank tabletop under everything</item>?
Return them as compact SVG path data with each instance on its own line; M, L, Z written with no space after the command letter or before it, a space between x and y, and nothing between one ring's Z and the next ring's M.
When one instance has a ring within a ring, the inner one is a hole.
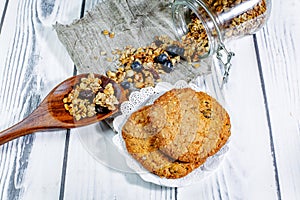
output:
M0 1L0 130L74 73L52 25L98 2ZM267 26L229 44L236 56L225 94L234 132L209 177L158 186L95 161L74 130L39 132L0 146L0 199L300 199L300 2L272 3Z

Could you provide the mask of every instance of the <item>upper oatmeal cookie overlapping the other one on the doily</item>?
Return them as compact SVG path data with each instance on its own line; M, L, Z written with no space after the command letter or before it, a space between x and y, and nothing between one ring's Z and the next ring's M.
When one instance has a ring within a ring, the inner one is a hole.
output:
M179 132L173 132L159 149L175 160L198 162L215 154L230 136L230 120L225 109L204 92L175 89L180 101ZM156 103L156 102L155 102ZM163 130L163 129L162 129ZM158 134L158 140L165 140ZM173 140L170 140L173 138Z

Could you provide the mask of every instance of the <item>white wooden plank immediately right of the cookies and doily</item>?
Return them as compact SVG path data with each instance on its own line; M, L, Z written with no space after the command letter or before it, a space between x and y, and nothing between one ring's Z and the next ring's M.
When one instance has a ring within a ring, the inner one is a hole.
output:
M276 199L264 99L251 37L229 44L236 52L225 88L232 122L229 152L203 182L178 189L178 199Z

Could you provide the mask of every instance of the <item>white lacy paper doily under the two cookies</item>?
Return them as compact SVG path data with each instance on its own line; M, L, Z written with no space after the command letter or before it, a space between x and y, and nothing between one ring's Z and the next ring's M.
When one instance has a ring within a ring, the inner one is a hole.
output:
M127 121L128 117L134 111L138 110L144 105L152 104L154 100L157 99L160 95L173 88L190 87L195 91L203 91L210 93L210 91L205 90L205 88L200 88L197 85L192 83L188 84L187 82L182 80L176 82L174 85L171 85L170 83L166 82L161 82L158 83L154 88L148 87L143 88L140 91L133 92L129 97L129 101L123 102L121 104L122 114L116 117L113 121L113 127L118 133L116 136L113 137L113 143L118 147L120 153L124 155L128 167L133 169L137 174L139 174L139 176L143 180L168 187L182 187L191 185L193 183L197 183L219 166L224 154L229 150L228 145L225 144L221 148L221 150L218 151L215 155L207 158L206 162L203 165L192 171L187 176L179 179L160 178L159 176L150 173L149 171L144 169L143 166L139 162L137 162L133 157L131 157L131 155L127 152L125 142L122 138L122 127Z

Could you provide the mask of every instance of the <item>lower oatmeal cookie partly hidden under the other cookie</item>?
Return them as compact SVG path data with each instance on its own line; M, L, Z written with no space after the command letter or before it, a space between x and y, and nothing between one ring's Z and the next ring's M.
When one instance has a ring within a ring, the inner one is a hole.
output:
M159 150L157 134L159 131L149 131L150 113L159 107L146 106L133 113L122 129L127 151L139 161L148 171L166 178L181 178L200 166L197 163L175 161ZM158 123L158 129L163 123Z

